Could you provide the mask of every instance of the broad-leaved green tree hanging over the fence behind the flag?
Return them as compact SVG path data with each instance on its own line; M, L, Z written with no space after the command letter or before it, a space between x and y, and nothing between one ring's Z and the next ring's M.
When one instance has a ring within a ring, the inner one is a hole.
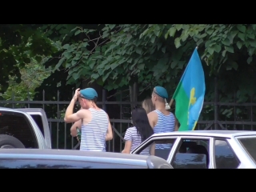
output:
M55 69L62 66L69 71L67 83L90 79L107 90L137 83L140 91L158 84L174 93L198 46L206 73L206 101L214 99L213 77L217 77L220 101L233 101L235 90L238 102L246 102L256 89L250 84L256 80L255 30L251 24L106 24L100 31L77 26L74 36L84 38L62 43ZM233 112L222 110L226 117Z

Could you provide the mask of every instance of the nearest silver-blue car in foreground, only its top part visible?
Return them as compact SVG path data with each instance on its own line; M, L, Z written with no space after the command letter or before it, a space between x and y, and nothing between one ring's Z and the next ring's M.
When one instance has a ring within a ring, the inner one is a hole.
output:
M0 169L173 169L155 156L86 150L0 150Z

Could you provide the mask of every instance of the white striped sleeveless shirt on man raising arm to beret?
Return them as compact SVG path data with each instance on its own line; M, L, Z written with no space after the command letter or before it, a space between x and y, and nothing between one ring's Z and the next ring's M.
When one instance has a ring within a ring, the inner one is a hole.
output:
M89 109L91 121L81 126L80 150L106 151L106 131L109 119L104 110Z

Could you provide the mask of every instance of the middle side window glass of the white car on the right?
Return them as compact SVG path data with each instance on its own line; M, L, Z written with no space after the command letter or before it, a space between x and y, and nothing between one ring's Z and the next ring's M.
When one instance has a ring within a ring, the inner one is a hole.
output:
M182 138L174 152L174 157L171 159L171 166L174 169L208 168L210 161L209 143L209 139Z

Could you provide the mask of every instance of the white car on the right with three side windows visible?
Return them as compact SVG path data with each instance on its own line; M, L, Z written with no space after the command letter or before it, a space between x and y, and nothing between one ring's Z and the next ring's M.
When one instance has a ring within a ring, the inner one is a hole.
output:
M154 144L154 145L152 145ZM160 158L174 169L256 168L256 131L192 130L154 134L131 151L140 154L150 148L165 147Z

